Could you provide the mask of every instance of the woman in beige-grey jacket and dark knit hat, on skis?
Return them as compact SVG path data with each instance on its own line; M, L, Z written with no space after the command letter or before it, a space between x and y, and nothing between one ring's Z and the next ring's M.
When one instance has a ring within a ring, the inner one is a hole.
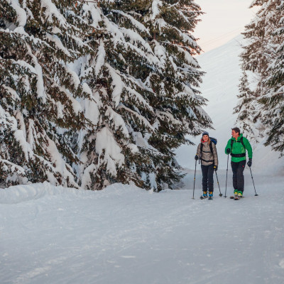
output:
M202 133L202 139L197 147L195 160L201 160L202 170L202 190L203 198L207 198L207 191L209 191L209 198L213 197L214 183L213 173L218 169L218 155L217 148L212 141L210 141L209 133Z

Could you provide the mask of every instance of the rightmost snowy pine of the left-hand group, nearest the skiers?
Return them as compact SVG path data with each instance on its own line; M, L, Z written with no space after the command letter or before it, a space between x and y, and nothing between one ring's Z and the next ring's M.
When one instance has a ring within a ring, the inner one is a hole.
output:
M148 38L162 67L151 72L147 84L155 92L153 108L158 116L158 132L149 143L163 153L163 163L155 165L157 179L172 185L180 179L173 150L186 143L187 134L197 135L211 120L202 110L206 99L196 87L202 72L192 55L200 53L192 31L202 13L195 1L151 1L144 21L149 25Z

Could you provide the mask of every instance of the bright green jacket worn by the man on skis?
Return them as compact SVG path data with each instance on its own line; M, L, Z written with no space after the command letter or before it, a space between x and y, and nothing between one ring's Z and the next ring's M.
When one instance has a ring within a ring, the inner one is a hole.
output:
M244 146L241 143L241 137L243 137L243 143L246 148L244 148ZM232 148L231 148L231 141L234 141ZM228 143L226 144L225 153L226 153L226 149L231 149L231 153L233 154L243 154L243 153L246 153L246 151L248 151L249 158L253 158L253 149L251 148L251 144L249 143L249 140L243 136L243 134L240 134L237 140L231 137L231 139L229 139ZM226 155L228 154L226 153ZM231 161L234 163L238 163L241 160L246 160L246 156L231 157Z

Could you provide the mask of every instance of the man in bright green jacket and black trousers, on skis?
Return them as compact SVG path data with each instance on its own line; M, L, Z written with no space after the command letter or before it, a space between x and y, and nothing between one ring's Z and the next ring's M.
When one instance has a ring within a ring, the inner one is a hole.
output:
M231 154L231 170L233 171L234 196L243 197L244 193L244 167L246 166L246 151L248 151L249 161L247 165L251 167L253 150L249 140L241 134L238 127L231 129L231 139L226 144L226 155Z

